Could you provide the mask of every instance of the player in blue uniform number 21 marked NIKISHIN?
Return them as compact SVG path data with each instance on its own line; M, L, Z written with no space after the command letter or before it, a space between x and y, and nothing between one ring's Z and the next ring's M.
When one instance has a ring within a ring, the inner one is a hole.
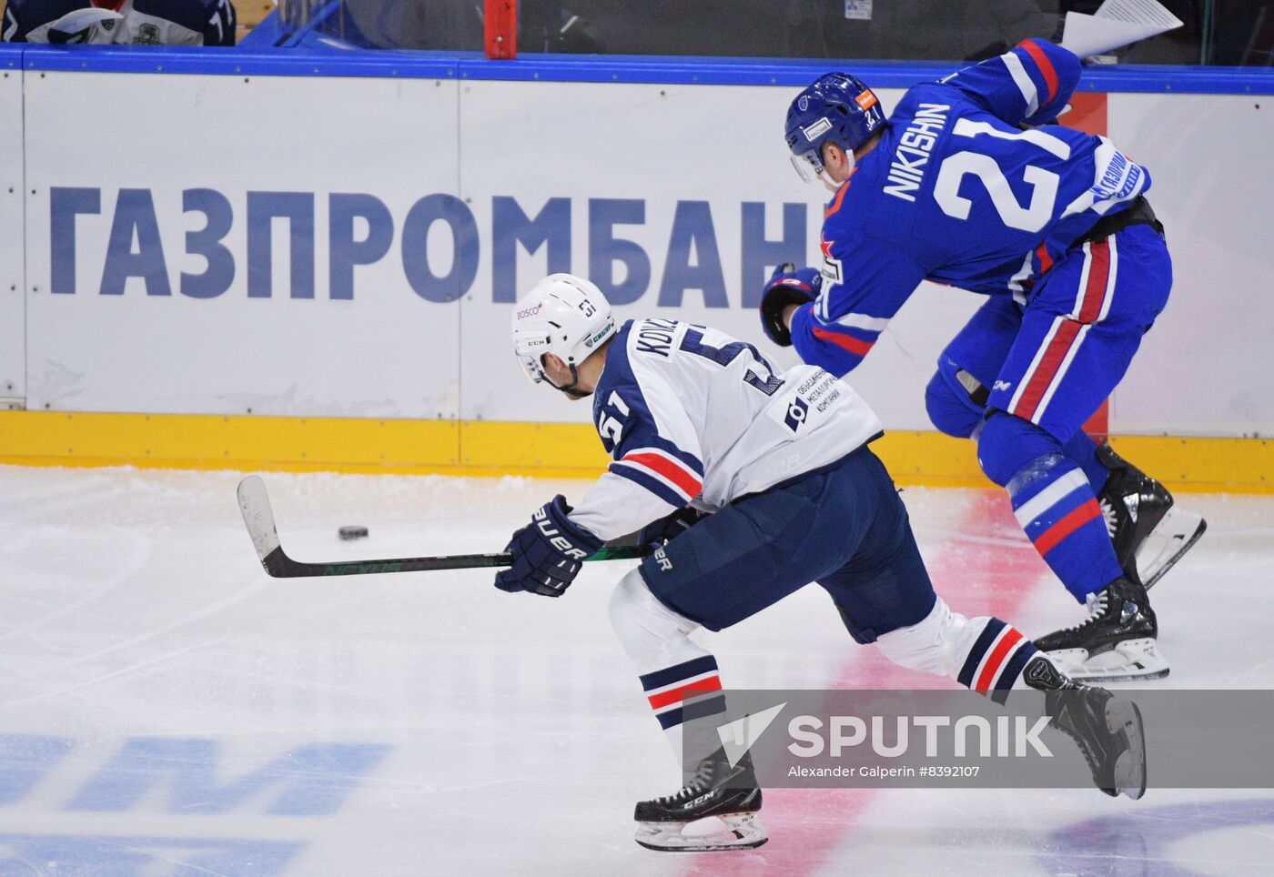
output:
M889 118L847 74L791 103L792 163L834 196L822 266L780 266L762 325L841 375L921 280L987 297L939 358L926 407L977 442L1027 536L1087 620L1037 639L1083 678L1168 672L1145 588L1203 533L1153 479L1080 426L1163 309L1172 265L1149 172L1055 125L1079 80L1043 39L911 88ZM1042 126L1043 127L1037 127Z

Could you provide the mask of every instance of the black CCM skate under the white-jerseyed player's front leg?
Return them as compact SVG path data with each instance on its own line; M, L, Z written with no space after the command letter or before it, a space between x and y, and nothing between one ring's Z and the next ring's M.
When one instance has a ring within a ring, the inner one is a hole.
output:
M699 761L689 784L666 798L642 801L637 820L638 844L671 853L750 849L769 840L757 811L761 788L744 754L730 766L719 748Z

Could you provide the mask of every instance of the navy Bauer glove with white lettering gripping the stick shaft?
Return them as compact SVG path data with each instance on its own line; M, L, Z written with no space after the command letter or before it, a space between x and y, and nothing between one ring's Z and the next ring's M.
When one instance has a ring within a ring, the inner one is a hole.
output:
M536 509L531 523L505 546L513 565L496 573L497 588L561 597L571 587L583 559L596 554L601 540L571 523L569 512L562 494Z

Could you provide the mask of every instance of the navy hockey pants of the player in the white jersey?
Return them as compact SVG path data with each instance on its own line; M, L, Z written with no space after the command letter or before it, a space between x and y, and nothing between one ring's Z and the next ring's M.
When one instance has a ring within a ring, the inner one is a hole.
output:
M934 607L907 509L866 447L744 496L642 561L665 606L721 630L810 582L832 594L860 643L920 622Z

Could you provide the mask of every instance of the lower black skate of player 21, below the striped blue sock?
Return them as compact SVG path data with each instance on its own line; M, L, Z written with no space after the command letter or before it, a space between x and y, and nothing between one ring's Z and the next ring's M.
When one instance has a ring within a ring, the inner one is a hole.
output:
M1068 676L1115 682L1168 675L1168 662L1154 642L1158 635L1145 588L1121 578L1089 594L1087 620L1040 636L1034 644Z

